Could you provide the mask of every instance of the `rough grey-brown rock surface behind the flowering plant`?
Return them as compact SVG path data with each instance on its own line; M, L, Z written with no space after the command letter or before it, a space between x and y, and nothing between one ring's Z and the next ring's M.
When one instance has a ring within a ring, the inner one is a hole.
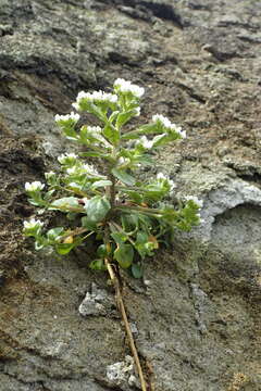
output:
M140 121L187 130L156 169L204 200L202 226L125 289L150 381L261 390L260 30L260 0L0 0L0 391L129 388L107 377L128 354L119 317L78 313L94 281L109 289L89 255L36 254L21 235L24 182L70 148L53 115L116 77L146 87Z

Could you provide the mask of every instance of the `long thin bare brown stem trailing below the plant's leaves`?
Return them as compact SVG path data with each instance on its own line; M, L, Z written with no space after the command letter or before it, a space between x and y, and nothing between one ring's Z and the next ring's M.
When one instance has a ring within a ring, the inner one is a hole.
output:
M112 267L112 265L111 265L111 263L110 263L110 261L108 258L105 258L105 265L107 265L107 269L108 269L108 273L110 275L110 278L111 278L111 280L113 282L114 289L115 289L116 304L117 304L119 311L122 314L125 330L126 330L126 333L127 333L128 343L129 343L132 354L134 356L134 361L135 361L135 364L136 364L136 367L137 367L137 370L138 370L141 390L147 391L147 384L146 384L146 381L145 381L145 378L144 378L144 373L142 373L142 369L141 369L141 365L140 365L139 356L138 356L138 353L137 353L137 349L135 346L133 332L130 330L128 318L127 318L127 315L126 315L125 305L124 305L124 302L123 302L119 279L117 279L117 277L116 277L116 275L115 275L115 273L113 270L113 267Z

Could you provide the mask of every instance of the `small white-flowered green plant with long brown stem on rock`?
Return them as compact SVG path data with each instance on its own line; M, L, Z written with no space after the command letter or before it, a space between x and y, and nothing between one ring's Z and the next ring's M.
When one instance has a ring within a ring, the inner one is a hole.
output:
M85 152L59 156L61 172L46 173L47 185L39 181L25 185L33 205L40 207L41 213L42 210L65 213L69 224L45 231L44 223L32 218L24 223L24 235L35 238L36 250L52 247L61 255L92 236L97 240L97 256L89 265L92 269L108 269L123 318L117 267L141 277L142 260L153 255L167 231L189 230L200 222L201 202L197 198L184 197L174 204L170 195L175 185L167 176L158 173L141 180L137 175L140 166L153 164L151 151L186 137L181 127L160 114L146 125L124 130L132 118L139 116L142 94L144 88L120 78L111 93L79 92L73 103L79 114L55 115L55 122L66 139L84 146ZM84 112L95 115L100 126L79 127ZM97 166L87 162L89 157L97 161ZM80 225L75 226L75 222ZM125 320L132 345L132 332ZM132 350L137 355L135 346ZM136 364L146 390L138 357Z

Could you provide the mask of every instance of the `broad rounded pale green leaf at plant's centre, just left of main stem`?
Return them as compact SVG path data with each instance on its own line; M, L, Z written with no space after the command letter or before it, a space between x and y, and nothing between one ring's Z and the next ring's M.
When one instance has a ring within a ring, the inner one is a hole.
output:
M110 211L111 204L105 195L92 197L85 204L85 210L88 215L88 219L92 223L101 222L107 213Z

